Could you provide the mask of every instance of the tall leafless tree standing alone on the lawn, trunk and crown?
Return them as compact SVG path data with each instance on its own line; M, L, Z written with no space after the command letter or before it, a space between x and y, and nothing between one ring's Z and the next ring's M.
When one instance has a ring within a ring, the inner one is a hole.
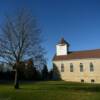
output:
M19 88L18 69L25 58L35 58L44 50L41 32L31 13L21 10L14 16L6 16L0 34L0 57L15 66L15 88ZM39 51L39 52L38 52Z

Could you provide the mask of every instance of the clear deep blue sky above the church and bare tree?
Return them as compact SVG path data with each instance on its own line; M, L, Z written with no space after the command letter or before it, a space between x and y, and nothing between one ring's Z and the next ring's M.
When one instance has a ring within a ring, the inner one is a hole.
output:
M38 19L49 68L61 37L72 51L100 48L100 0L0 0L0 23L5 13L21 7Z

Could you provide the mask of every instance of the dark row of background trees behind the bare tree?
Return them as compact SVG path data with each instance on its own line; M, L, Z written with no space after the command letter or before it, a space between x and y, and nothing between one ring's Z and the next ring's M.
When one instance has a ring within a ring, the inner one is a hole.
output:
M15 66L13 66L15 69ZM20 62L19 67L19 80L22 81L41 81L41 80L52 80L53 79L53 70L48 71L47 65L44 64L42 70L37 69L32 59L27 63ZM11 81L15 78L15 71L3 71L0 70L0 80Z

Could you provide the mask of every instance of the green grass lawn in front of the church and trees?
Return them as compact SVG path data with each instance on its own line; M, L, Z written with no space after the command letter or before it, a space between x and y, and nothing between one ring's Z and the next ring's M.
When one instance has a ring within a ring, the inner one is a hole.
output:
M22 83L15 90L0 84L0 100L100 100L100 85L46 81Z

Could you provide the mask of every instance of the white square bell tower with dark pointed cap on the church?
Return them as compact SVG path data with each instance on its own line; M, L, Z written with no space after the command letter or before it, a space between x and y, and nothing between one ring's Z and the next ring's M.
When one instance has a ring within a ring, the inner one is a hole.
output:
M56 55L67 55L69 51L69 43L64 40L64 38L61 38L59 43L56 45Z

